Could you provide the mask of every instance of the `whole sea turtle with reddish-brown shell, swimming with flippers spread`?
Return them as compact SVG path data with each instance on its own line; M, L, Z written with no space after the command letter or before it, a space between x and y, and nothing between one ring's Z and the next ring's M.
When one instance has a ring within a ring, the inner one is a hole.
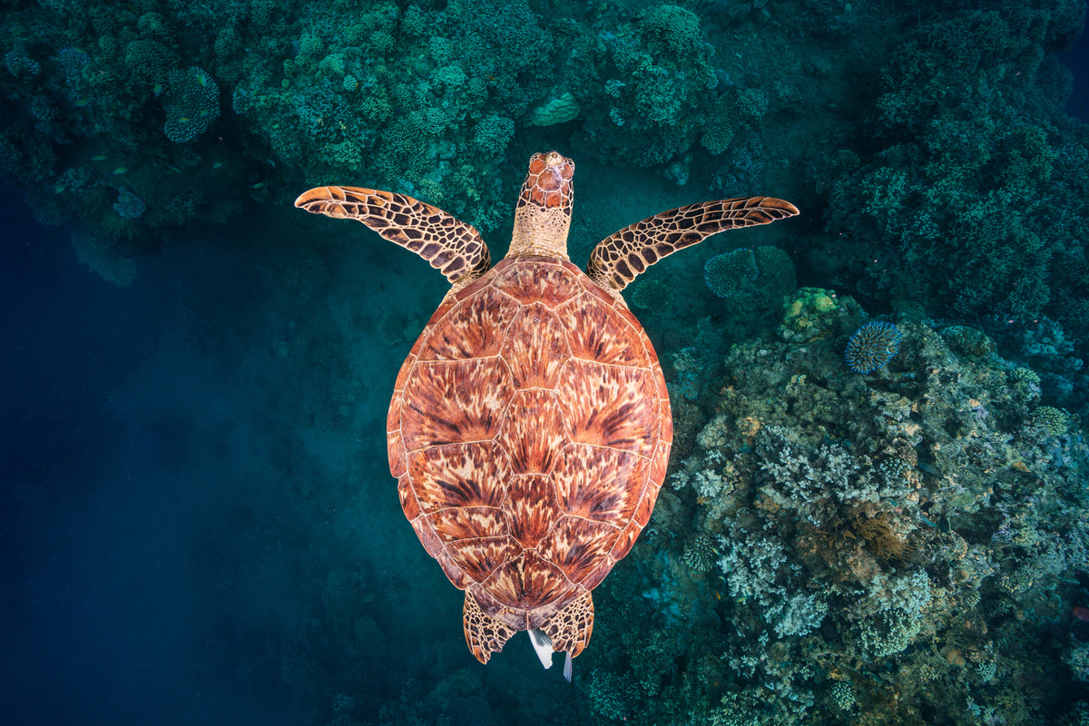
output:
M628 553L665 477L673 421L658 356L621 297L682 247L798 210L770 197L705 201L567 258L575 165L535 153L510 251L490 266L472 225L403 194L321 186L295 206L363 222L452 287L397 374L390 471L427 553L465 591L469 650L487 663L528 630L544 667L589 641L590 591Z

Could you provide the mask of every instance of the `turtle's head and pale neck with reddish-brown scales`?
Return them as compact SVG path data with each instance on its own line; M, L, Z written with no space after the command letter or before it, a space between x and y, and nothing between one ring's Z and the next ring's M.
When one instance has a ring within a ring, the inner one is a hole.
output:
M509 257L567 258L567 230L575 200L575 162L559 151L535 153L514 208Z

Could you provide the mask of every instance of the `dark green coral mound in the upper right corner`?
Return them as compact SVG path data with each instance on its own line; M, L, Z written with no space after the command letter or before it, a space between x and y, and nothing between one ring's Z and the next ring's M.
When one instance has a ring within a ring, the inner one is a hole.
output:
M866 290L958 315L1050 308L1081 324L1084 292L1068 285L1087 290L1084 249L1070 244L1086 232L1076 189L1087 152L1062 109L1067 72L1048 51L1069 42L1084 12L1044 2L933 14L897 46L859 108L878 143L830 184L831 226L866 239L864 254L896 250L867 266Z

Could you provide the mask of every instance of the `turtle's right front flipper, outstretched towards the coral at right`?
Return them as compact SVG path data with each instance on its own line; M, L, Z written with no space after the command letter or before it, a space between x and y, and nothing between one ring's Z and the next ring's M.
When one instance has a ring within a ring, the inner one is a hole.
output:
M677 207L629 224L590 253L586 272L605 290L621 291L644 270L712 234L794 217L798 208L774 197L742 197Z

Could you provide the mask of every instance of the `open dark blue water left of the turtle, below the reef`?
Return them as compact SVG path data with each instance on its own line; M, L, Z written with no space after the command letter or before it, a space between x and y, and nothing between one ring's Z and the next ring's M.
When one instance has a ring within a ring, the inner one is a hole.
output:
M378 284L424 309L441 279L416 276L407 253L331 244L332 284L285 293L268 258L299 237L273 210L264 226L187 231L119 288L17 195L2 213L4 721L487 716L461 593L404 521L386 464L407 343L343 318ZM357 366L330 364L353 345ZM322 398L331 387L340 401ZM524 639L488 674L533 701L573 698L558 670ZM451 674L465 682L426 701Z

